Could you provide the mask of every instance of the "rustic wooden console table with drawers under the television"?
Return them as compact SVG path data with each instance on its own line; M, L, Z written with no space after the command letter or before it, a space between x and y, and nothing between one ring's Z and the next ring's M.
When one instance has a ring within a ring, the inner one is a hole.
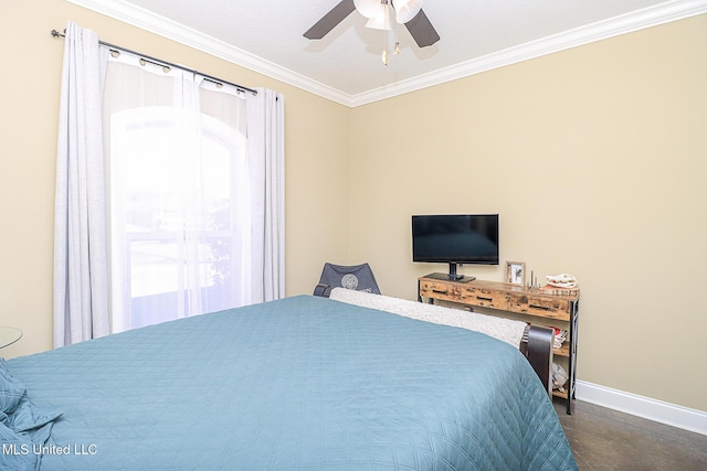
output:
M571 414L577 377L577 328L579 292L576 296L548 295L519 285L472 280L453 281L430 275L418 279L418 300L434 303L450 301L468 307L489 308L503 315L503 311L530 317L527 321L538 325L567 328L568 340L553 355L567 358L568 382L564 393L552 395L567 400L567 414Z

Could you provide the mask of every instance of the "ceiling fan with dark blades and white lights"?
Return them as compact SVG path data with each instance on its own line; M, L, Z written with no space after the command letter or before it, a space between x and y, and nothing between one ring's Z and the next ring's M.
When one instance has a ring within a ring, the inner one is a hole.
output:
M395 21L405 25L418 46L426 47L440 41L440 35L422 11L422 0L390 0L390 2L395 11ZM368 18L367 28L389 30L388 3L389 0L341 0L307 30L304 36L309 40L320 40L355 10Z

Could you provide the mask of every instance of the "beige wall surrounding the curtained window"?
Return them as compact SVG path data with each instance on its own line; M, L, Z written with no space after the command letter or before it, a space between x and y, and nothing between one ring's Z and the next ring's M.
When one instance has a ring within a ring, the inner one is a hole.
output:
M62 40L68 20L127 49L285 95L286 286L312 292L347 256L349 108L63 0L0 2L0 325L24 332L6 357L52 346L52 237ZM326 214L326 217L321 217Z

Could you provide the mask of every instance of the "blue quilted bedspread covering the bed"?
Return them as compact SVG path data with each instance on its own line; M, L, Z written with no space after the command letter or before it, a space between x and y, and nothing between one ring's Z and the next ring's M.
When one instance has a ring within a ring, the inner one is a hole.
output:
M517 350L323 298L137 329L7 366L38 407L62 414L36 450L48 470L577 469Z

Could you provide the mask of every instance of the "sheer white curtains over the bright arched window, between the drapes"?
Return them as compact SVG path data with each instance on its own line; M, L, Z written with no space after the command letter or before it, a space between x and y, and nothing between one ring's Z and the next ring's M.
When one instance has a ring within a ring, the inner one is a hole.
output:
M104 136L113 332L282 297L271 293L283 283L271 281L279 271L270 267L282 258L271 234L284 217L267 205L283 208L268 193L282 194L284 161L270 163L282 153L266 144L279 128L249 111L265 109L249 95L112 55Z

